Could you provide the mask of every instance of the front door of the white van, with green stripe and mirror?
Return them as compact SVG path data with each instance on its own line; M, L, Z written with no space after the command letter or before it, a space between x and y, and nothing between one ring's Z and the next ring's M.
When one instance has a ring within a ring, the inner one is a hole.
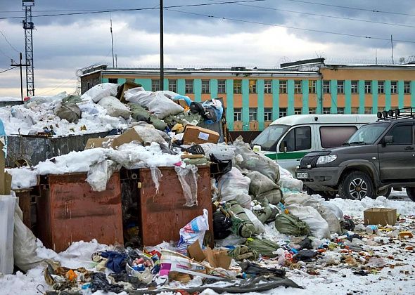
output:
M295 126L277 146L277 163L295 175L295 167L307 152L312 152L312 126Z

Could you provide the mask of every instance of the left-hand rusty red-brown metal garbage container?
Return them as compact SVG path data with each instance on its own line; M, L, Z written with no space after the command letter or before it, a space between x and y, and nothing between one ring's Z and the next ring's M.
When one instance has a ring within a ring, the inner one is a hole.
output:
M38 237L54 251L72 242L92 239L123 244L120 174L114 173L103 192L94 192L86 173L49 175L37 200Z

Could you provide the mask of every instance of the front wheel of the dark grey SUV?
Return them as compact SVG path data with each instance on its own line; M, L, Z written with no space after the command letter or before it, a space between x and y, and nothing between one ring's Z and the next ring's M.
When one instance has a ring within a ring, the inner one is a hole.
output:
M363 199L373 195L371 178L362 171L354 171L345 176L338 187L338 195L343 199Z

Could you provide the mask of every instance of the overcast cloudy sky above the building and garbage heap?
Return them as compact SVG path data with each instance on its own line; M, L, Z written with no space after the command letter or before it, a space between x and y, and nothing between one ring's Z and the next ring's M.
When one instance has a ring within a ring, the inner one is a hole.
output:
M415 55L414 0L218 4L231 1L237 0L164 0L165 67L278 67L316 57L374 63L376 50L378 62L390 63L391 34L395 63ZM78 69L96 63L112 66L110 17L117 65L158 67L159 4L159 0L35 0L33 15L53 14L33 18L35 94L71 93ZM127 8L153 9L56 15ZM10 68L10 58L18 60L18 52L24 55L22 18L15 18L23 15L21 1L0 0L0 72ZM20 96L18 68L0 74L0 96Z

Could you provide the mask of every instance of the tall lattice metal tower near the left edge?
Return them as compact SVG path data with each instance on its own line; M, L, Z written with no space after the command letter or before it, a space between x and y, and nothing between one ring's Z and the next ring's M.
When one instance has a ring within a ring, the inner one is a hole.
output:
M25 20L23 20L23 29L25 29L25 58L26 64L26 94L34 96L34 70L33 70L33 29L32 6L34 0L22 0L23 10L25 11Z

